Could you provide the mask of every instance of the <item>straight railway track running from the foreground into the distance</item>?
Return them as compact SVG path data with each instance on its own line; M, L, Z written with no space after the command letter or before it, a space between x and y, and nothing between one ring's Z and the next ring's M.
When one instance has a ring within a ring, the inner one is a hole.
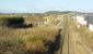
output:
M61 21L58 25L61 27L61 24L63 22ZM61 35L61 49L60 54L70 54L70 41L69 41L69 25L68 25L68 18L63 23L62 35Z

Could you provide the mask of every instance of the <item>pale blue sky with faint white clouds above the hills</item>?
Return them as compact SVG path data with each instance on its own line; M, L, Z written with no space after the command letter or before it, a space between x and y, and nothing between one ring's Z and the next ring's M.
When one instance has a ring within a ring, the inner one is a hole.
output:
M0 0L0 12L39 13L47 11L93 12L93 0Z

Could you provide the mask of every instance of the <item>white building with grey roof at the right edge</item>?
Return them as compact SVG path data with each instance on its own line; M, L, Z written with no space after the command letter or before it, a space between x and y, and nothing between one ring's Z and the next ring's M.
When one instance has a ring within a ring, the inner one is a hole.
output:
M75 15L72 18L75 19L80 25L86 26L89 30L93 31L93 15Z

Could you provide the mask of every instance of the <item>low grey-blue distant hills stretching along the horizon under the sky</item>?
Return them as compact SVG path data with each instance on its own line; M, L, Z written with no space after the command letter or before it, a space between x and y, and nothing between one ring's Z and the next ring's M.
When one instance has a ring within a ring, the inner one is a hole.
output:
M61 15L61 14L68 14L68 13L74 13L74 14L89 14L89 15L93 15L93 13L83 13L83 12L77 12L77 11L48 11L45 13L7 13L5 11L2 12L0 11L0 15L22 15L22 16L45 16L45 15Z

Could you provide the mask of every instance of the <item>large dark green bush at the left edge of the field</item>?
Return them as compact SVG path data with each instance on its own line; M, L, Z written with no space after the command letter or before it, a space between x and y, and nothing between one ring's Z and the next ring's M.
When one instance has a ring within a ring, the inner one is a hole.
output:
M22 25L24 23L24 18L21 16L10 16L10 17L1 17L0 25L1 26L12 26L12 25Z

